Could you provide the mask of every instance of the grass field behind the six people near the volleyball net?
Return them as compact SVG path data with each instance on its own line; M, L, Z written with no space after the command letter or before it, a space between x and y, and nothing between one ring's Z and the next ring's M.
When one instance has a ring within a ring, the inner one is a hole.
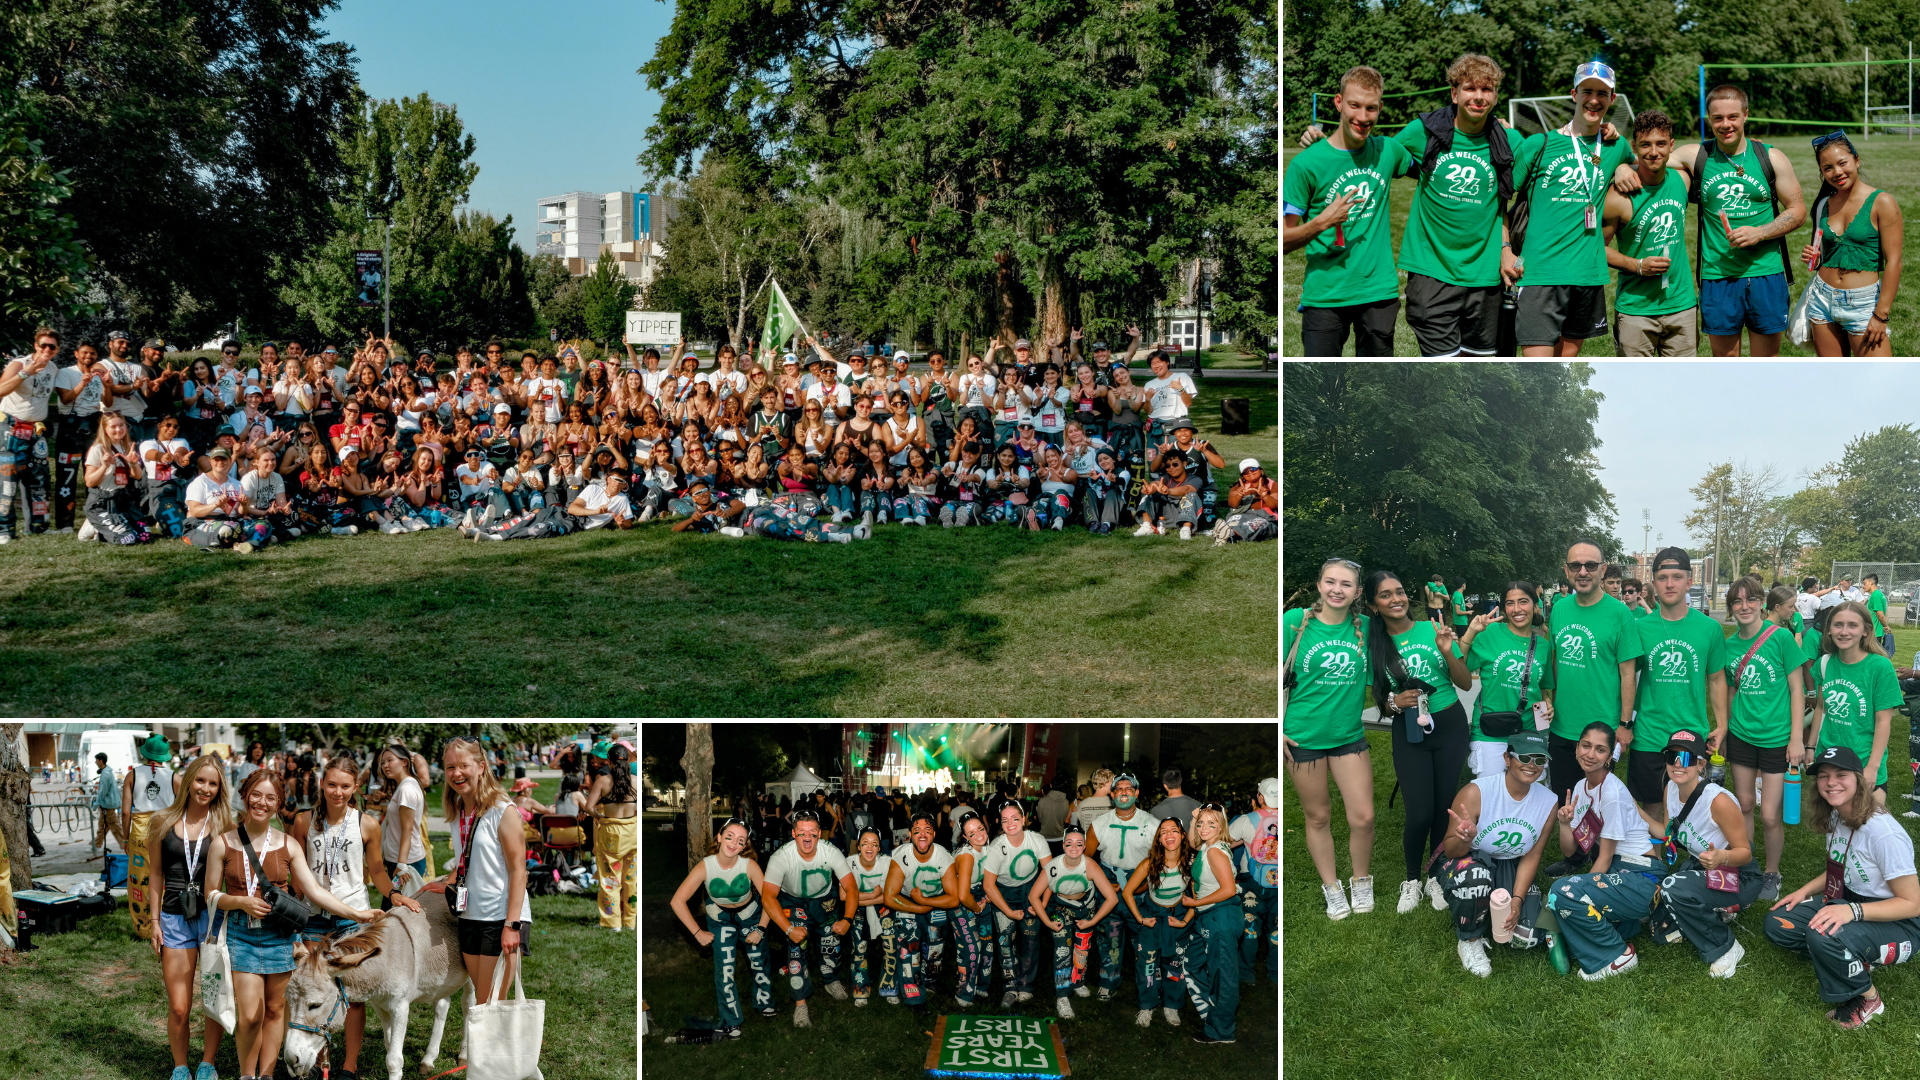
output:
M1793 160L1793 173L1801 181L1801 190L1807 194L1807 211L1812 213L1814 196L1820 190L1820 169L1812 161L1812 146L1809 146L1812 133L1818 129L1795 131L1793 135L1768 133L1759 135L1763 142L1770 146L1780 146L1788 158ZM1386 135L1398 135L1386 133ZM1907 215L1907 234L1914 234L1912 217L1920 211L1920 140L1908 140L1905 135L1876 135L1872 142L1859 140L1859 127L1849 131L1855 138L1855 146L1860 150L1860 177L1876 188L1885 188L1901 202L1901 213ZM1284 160L1292 161L1294 154L1300 152L1300 125L1292 125L1284 133ZM1693 138L1682 138L1682 144ZM1398 179L1392 183L1392 194L1388 209L1394 219L1394 252L1400 252L1400 236L1407 227L1407 208L1413 204L1413 179ZM1693 234L1699 231L1697 209L1688 213L1688 258L1693 252ZM1801 288L1807 286L1807 267L1799 265L1799 250L1807 246L1812 236L1812 225L1803 223L1791 236L1788 236L1788 254L1795 259L1793 263L1793 298L1799 298ZM1300 281L1306 277L1308 259L1306 248L1290 252L1284 256L1284 284L1283 284L1283 311L1281 311L1281 356L1302 356L1300 344ZM1607 311L1613 311L1613 284L1619 281L1619 271L1615 271L1607 281ZM1905 284L1905 282L1903 282ZM1405 286L1407 275L1400 271L1400 296L1402 311L1396 319L1394 331L1394 352L1396 356L1419 356L1419 346L1413 340L1413 331L1407 329L1405 317ZM1609 317L1611 325L1611 317ZM1910 356L1920 352L1920 300L1914 298L1912 288L1901 288L1899 296L1893 300L1893 356ZM1354 340L1348 338L1346 356L1354 356ZM1812 356L1811 338L1805 346L1795 346L1791 338L1782 336L1780 340L1782 356ZM1580 356L1615 356L1613 336L1588 338L1586 348ZM1711 356L1707 348L1707 334L1701 332L1699 356Z

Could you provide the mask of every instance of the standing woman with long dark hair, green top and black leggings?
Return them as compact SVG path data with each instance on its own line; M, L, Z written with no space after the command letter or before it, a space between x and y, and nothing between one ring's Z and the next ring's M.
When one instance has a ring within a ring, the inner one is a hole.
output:
M1392 717L1394 776L1405 796L1400 851L1407 876L1400 882L1398 907L1405 915L1419 903L1425 867L1446 840L1446 809L1459 790L1471 742L1457 690L1471 690L1473 676L1452 628L1413 621L1413 603L1398 575L1367 575L1363 594L1373 613L1367 623L1373 700L1382 719ZM1359 903L1357 884L1354 892Z

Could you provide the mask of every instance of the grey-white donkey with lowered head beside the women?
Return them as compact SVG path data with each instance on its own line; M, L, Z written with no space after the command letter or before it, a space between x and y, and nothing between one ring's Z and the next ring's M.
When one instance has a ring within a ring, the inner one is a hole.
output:
M401 1080L407 1009L432 1001L424 1076L440 1057L447 1005L465 986L459 928L438 896L428 896L419 915L396 907L351 934L296 942L294 974L286 980L286 1067L294 1076L315 1074L324 1065L328 1034L346 1026L348 1005L365 1003L386 1036L388 1080Z

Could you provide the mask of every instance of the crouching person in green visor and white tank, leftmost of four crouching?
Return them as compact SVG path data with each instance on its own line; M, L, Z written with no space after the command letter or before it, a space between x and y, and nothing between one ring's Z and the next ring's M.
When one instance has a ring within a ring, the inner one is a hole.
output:
M1542 897L1534 874L1555 809L1553 792L1540 782L1548 769L1546 734L1521 730L1507 738L1505 765L1505 773L1480 776L1453 798L1448 807L1453 824L1436 874L1453 911L1459 963L1480 978L1494 974L1488 930L1515 949L1530 949L1544 938L1536 928ZM1507 899L1496 920L1492 905L1500 896Z

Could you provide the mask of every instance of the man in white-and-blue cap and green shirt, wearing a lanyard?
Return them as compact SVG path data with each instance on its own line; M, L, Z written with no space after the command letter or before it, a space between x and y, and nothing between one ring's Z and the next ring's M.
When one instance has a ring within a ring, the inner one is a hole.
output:
M1613 67L1594 60L1572 75L1572 119L1521 142L1513 171L1526 200L1513 273L1513 332L1521 356L1580 356L1586 338L1607 332L1607 248L1599 229L1607 177L1632 156L1605 136Z

